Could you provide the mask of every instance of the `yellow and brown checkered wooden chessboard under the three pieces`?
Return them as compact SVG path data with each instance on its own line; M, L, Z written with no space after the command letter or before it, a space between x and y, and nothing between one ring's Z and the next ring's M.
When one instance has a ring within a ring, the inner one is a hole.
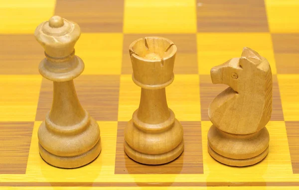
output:
M0 189L298 190L298 9L299 0L1 0ZM53 14L82 29L75 49L85 71L75 86L101 128L100 156L71 170L49 166L38 153L37 129L50 109L52 84L38 73L44 52L33 33ZM149 35L178 48L166 94L184 127L185 150L161 166L135 163L123 150L123 129L141 92L131 78L128 47ZM210 68L240 57L244 46L271 64L273 114L269 155L236 168L208 154L207 108L226 88L212 85Z

